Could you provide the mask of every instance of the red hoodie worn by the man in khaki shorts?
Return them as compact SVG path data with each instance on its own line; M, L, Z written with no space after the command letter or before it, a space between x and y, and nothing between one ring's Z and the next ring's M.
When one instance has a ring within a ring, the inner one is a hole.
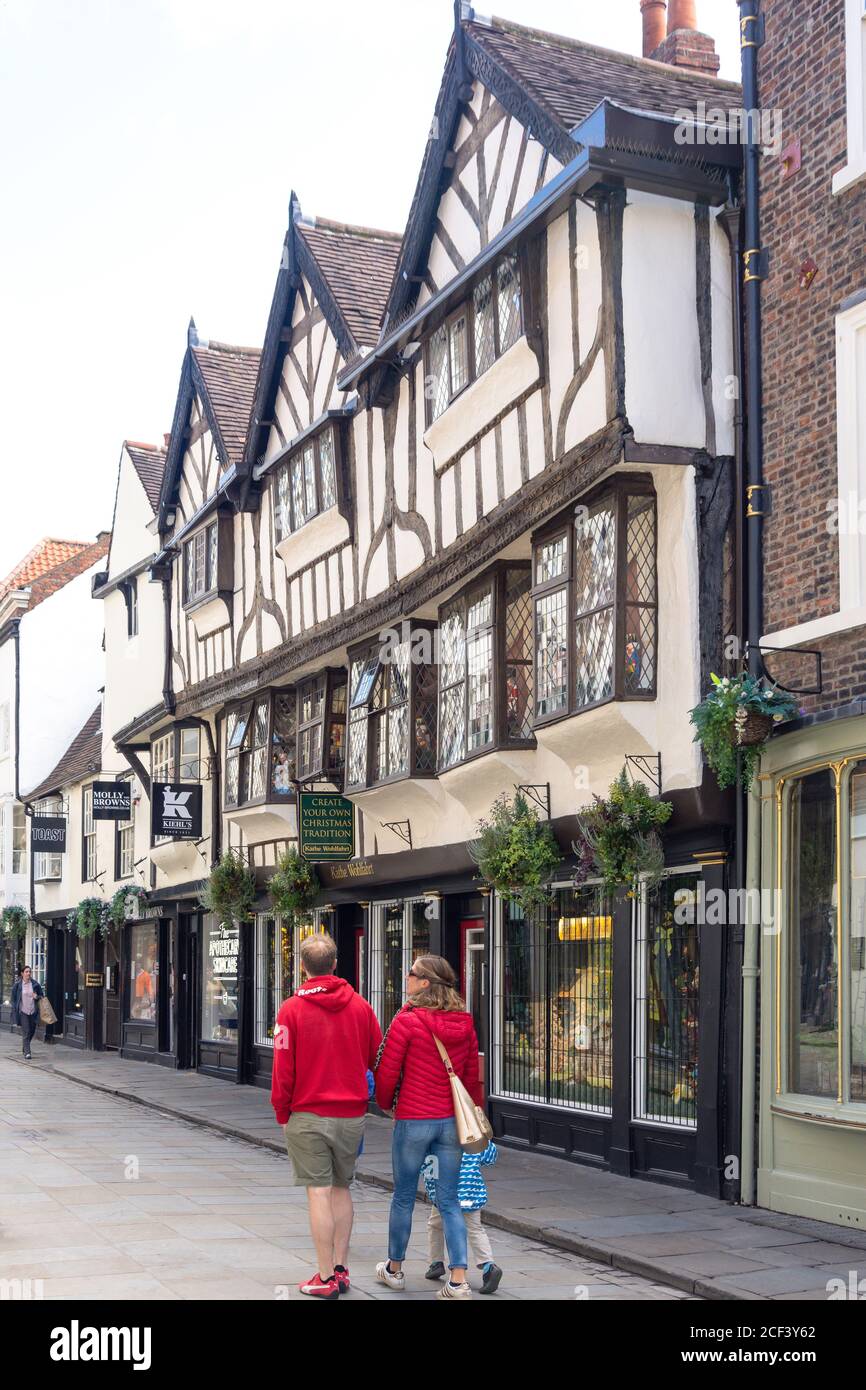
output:
M281 1005L274 1029L271 1105L277 1123L292 1111L357 1118L367 1112L367 1072L382 1030L348 980L317 974Z

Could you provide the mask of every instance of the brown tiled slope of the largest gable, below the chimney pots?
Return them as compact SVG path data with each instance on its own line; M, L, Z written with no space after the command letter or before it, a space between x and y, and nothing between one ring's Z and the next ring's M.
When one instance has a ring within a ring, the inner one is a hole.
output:
M635 6L637 10L637 6ZM735 82L699 76L652 58L528 29L510 19L467 24L467 32L566 131L571 131L609 97L642 111L673 115L696 101L737 101Z

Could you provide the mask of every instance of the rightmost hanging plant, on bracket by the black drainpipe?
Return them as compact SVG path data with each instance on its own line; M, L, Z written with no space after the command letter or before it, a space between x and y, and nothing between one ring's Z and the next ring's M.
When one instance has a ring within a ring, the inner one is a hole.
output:
M737 752L742 787L752 785L760 760L760 744L773 726L802 710L785 691L755 676L710 676L713 688L689 713L695 742L703 748L720 787L737 781ZM763 721L763 723L762 723Z

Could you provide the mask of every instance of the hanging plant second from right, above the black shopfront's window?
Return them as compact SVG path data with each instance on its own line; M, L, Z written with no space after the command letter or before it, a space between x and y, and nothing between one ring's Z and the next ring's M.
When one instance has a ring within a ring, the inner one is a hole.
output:
M571 845L578 865L575 881L598 874L610 897L620 888L630 898L642 885L653 888L664 870L659 827L670 820L673 809L670 801L655 801L644 783L632 783L623 767L607 796L594 796L592 805L577 813L580 838Z

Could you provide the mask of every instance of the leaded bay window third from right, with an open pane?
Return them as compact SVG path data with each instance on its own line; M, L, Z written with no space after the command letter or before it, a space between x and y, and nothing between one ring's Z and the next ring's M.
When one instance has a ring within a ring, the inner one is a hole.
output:
M434 628L405 623L349 653L348 787L435 773Z

